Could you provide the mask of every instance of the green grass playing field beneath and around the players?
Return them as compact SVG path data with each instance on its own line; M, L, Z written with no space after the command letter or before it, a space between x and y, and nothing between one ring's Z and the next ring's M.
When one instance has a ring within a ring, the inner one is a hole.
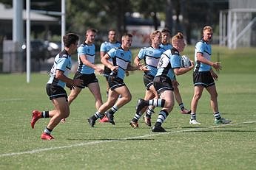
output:
M230 53L221 50L223 71L216 84L220 112L232 124L213 126L205 91L198 105L201 125L189 124L189 116L181 115L175 104L163 125L166 133L151 132L142 118L138 129L129 127L137 99L144 96L141 72L125 79L133 99L115 114L115 126L89 126L87 118L95 107L85 89L71 105L67 122L53 131L53 141L40 139L49 119L40 119L34 130L30 127L33 109L52 109L45 93L48 75L32 74L27 84L26 74L0 74L0 169L256 169L256 57L235 53L230 58ZM104 77L98 79L105 101ZM192 72L178 81L189 107Z

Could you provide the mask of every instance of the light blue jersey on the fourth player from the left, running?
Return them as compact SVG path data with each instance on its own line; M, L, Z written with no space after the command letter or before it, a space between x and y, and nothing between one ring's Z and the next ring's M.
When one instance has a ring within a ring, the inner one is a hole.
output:
M124 79L127 65L131 63L132 52L124 51L122 48L110 49L107 54L112 58L113 65L118 66L117 77Z

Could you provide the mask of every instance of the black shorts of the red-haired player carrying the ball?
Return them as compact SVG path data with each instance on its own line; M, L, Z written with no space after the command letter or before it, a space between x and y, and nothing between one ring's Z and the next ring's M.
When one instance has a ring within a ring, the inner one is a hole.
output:
M162 91L173 91L172 80L169 77L158 76L154 79L155 91L160 94Z

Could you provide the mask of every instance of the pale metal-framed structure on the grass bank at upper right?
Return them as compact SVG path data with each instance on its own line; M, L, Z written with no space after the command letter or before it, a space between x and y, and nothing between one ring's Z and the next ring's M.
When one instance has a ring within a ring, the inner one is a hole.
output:
M256 9L222 10L219 24L220 46L256 46Z

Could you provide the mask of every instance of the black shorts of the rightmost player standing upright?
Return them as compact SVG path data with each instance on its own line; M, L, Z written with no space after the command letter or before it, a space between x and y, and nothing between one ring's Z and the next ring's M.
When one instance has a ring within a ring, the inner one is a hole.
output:
M212 78L210 71L193 72L193 82L195 86L203 86L204 88L215 85L215 80Z

